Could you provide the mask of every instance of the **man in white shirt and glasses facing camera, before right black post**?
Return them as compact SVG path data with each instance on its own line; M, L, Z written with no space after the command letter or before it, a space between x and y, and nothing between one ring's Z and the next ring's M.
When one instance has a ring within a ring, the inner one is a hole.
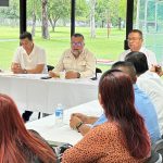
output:
M120 61L124 61L125 57L129 52L131 52L131 51L139 51L139 52L143 52L146 54L149 67L151 67L152 64L156 65L155 54L152 51L146 49L142 46L143 37L142 37L141 30L133 29L128 34L128 39L127 40L128 40L129 49L120 54Z

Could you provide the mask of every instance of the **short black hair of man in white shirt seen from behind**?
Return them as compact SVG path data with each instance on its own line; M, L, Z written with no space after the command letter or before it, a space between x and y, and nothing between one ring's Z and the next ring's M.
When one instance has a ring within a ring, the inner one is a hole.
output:
M142 52L139 51L129 52L126 55L125 61L131 62L134 64L137 75L141 75L149 70L147 57Z

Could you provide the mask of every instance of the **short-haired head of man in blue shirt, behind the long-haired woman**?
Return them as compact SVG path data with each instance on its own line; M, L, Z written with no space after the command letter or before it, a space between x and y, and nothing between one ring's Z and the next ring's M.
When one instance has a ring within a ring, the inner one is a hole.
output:
M121 70L121 67L124 67L125 70ZM136 70L131 62L118 61L115 62L111 68L112 70L120 68L122 72L127 73L129 75L133 83L136 83Z

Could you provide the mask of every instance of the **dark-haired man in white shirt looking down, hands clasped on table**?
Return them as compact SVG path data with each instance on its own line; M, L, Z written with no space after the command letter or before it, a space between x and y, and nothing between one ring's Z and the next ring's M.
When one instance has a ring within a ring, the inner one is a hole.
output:
M21 47L17 48L11 71L15 74L41 74L48 73L46 52L40 47L37 47L30 33L23 33L20 36ZM23 113L24 121L28 121L33 114L30 111Z

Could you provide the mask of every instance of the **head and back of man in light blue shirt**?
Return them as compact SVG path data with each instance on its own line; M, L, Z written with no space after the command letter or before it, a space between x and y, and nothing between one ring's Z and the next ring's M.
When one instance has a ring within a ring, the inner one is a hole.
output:
M136 110L145 120L145 124L149 131L151 141L155 142L161 138L158 115L149 96L139 89L139 87L135 84L137 80L135 66L130 62L120 61L114 63L112 68L121 70L130 76L134 85Z

